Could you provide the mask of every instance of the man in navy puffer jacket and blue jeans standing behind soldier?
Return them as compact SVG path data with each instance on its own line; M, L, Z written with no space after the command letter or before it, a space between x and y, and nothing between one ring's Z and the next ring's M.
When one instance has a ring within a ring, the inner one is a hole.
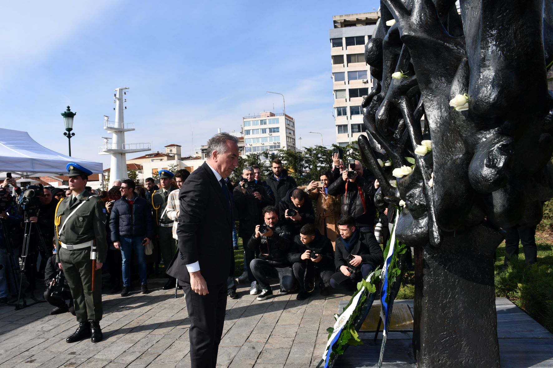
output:
M152 206L144 198L134 193L135 184L131 179L121 182L121 199L118 199L109 215L109 231L111 240L116 249L121 249L123 257L123 290L121 296L126 296L131 290L131 260L132 253L138 260L140 274L140 290L148 293L146 283L146 257L144 246L154 236L154 221Z

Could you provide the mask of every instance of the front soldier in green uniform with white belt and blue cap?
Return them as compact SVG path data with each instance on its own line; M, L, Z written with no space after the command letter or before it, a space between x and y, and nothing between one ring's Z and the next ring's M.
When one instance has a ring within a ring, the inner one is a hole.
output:
M74 343L90 337L93 343L97 343L102 340L100 269L107 255L106 208L100 197L85 190L88 175L92 174L90 170L71 162L67 164L67 172L71 195L56 207L56 260L71 289L79 327L66 342Z

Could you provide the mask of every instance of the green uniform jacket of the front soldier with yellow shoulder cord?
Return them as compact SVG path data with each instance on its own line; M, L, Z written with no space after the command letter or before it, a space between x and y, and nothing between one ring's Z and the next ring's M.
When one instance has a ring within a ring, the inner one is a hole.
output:
M106 240L106 207L103 201L97 195L90 194L87 190L82 193L80 200L77 199L75 204L70 206L71 196L60 201L56 209L55 223L58 223L58 228L54 226L56 238L56 262L60 262L60 242L64 244L81 244L93 239L96 239L96 262L103 263L107 256L107 240ZM65 219L73 212L77 206L85 202L78 210L69 218L63 230L61 226ZM62 230L58 234L58 230Z

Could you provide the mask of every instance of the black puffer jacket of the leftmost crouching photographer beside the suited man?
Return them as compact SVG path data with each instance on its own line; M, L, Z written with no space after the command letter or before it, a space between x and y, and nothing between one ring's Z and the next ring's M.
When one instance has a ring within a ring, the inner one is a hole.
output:
M260 236L255 238L255 234L249 238L248 248L254 252L259 251L259 259L269 261L270 265L275 267L289 266L288 251L290 249L290 232L286 225L279 225L273 230L273 236Z

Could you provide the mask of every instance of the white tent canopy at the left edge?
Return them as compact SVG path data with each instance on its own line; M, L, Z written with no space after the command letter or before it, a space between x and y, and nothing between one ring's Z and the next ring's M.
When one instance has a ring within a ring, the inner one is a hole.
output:
M65 156L39 145L28 132L0 128L0 172L22 176L65 175L69 162L78 163L92 173L102 173L101 162Z

